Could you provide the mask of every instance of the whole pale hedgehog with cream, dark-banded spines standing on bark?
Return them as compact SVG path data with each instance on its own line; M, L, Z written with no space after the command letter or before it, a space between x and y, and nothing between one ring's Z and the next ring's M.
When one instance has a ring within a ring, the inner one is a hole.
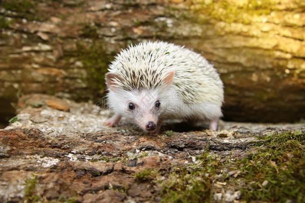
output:
M107 104L144 132L156 134L164 119L208 121L216 130L222 116L223 84L201 55L167 42L142 42L122 50L105 74Z

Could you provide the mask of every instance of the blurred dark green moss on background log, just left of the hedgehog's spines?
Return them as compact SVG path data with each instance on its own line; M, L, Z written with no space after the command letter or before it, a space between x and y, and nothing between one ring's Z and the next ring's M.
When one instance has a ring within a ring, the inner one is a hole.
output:
M87 70L84 78L93 97L100 97L105 89L104 76L113 56L106 53L102 41L94 41L90 46L77 44L77 58Z

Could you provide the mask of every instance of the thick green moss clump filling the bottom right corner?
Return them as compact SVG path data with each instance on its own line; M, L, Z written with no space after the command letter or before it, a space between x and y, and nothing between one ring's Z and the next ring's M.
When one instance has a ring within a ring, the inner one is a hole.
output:
M285 132L260 137L265 143L256 153L236 161L245 175L245 200L305 202L305 133ZM268 184L262 186L263 181Z

